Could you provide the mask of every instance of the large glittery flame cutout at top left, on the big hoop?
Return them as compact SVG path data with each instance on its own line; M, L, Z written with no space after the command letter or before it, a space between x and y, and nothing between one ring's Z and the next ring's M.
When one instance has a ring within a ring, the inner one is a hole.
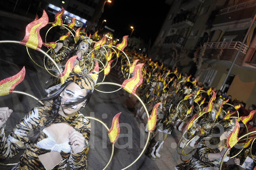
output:
M42 47L43 41L40 36L40 29L46 26L48 23L48 16L45 11L40 19L30 22L26 26L26 34L22 41L21 45L25 45L32 49L39 51Z

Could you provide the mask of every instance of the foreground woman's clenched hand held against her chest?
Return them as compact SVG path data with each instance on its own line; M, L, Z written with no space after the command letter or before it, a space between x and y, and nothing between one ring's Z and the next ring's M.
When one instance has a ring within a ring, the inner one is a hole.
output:
M74 130L73 132L69 130L68 138L71 144L71 148L75 154L83 150L85 138L83 137L82 133L79 133L76 130Z

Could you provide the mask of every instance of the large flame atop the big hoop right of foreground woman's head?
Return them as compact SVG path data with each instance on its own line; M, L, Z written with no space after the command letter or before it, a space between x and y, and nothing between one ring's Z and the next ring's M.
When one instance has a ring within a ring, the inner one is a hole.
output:
M141 73L141 68L144 64L137 64L134 68L134 76L126 79L123 84L122 88L125 89L127 92L135 95L135 91L139 85L141 85L143 78Z

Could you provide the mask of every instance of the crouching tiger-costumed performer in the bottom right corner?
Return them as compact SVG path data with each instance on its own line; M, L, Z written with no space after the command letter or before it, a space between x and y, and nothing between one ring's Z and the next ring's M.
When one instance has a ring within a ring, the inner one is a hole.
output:
M221 127L214 127L208 133L206 137L203 137L195 154L189 160L176 165L176 170L218 170L220 161L226 150L226 139L235 127L234 121L223 120L219 123ZM217 146L217 147L214 147ZM224 158L224 161L228 161L228 156ZM235 158L234 163L240 164L240 159Z

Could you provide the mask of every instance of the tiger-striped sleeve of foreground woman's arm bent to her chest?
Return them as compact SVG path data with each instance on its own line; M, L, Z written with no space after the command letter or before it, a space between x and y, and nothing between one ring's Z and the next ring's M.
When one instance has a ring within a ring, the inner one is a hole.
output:
M87 153L89 150L88 146L88 140L90 138L91 133L91 124L90 121L86 118L82 119L82 122L79 123L80 128L78 131L83 134L85 137L84 141L84 149L79 153L73 153L71 151L70 157L69 157L69 167L71 170L85 170L87 168Z

